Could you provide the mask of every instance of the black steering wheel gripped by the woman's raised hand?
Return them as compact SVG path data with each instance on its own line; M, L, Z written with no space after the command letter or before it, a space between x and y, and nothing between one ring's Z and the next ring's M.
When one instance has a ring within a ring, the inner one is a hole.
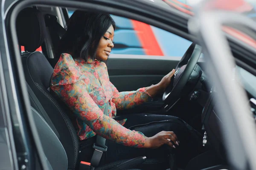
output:
M189 81L198 81L202 70L197 62L201 55L201 46L192 43L186 50L180 62L175 68L175 74L172 76L171 84L163 93L163 101L167 104L168 110L179 101L182 91ZM166 108L165 108L166 109ZM166 110L166 111L168 111Z

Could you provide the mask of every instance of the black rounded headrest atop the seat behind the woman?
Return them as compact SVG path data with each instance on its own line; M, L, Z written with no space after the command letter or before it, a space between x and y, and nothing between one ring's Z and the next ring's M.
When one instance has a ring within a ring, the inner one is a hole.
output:
M46 26L43 14L35 8L25 8L17 16L16 30L20 46L34 52L44 42Z

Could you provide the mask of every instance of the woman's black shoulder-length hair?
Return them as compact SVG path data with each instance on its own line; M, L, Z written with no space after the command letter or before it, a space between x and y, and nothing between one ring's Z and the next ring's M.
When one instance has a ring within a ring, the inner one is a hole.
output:
M69 53L73 58L88 61L96 59L96 50L102 36L116 23L109 14L76 10L67 22L67 32L62 36L58 52Z

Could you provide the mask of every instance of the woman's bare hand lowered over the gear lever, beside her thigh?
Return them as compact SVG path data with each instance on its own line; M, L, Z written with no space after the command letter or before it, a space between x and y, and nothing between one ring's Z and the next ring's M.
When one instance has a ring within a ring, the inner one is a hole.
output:
M168 144L171 147L175 148L175 145L172 144L172 142L174 144L179 145L179 141L177 136L175 135L174 132L166 132L166 131L162 131L160 133L157 133L156 135L152 136L152 137L146 137L146 142L144 144L143 147L145 148L158 148L160 146L162 146L163 144Z

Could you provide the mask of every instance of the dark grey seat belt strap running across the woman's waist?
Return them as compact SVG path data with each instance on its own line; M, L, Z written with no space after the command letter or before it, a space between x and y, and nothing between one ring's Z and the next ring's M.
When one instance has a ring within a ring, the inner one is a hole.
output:
M104 108L104 115L108 115L108 104L106 104ZM94 170L95 167L99 166L99 162L102 158L103 152L106 152L108 150L108 147L106 146L106 139L97 135L96 142L93 144L93 148L94 152L90 161L90 170Z

